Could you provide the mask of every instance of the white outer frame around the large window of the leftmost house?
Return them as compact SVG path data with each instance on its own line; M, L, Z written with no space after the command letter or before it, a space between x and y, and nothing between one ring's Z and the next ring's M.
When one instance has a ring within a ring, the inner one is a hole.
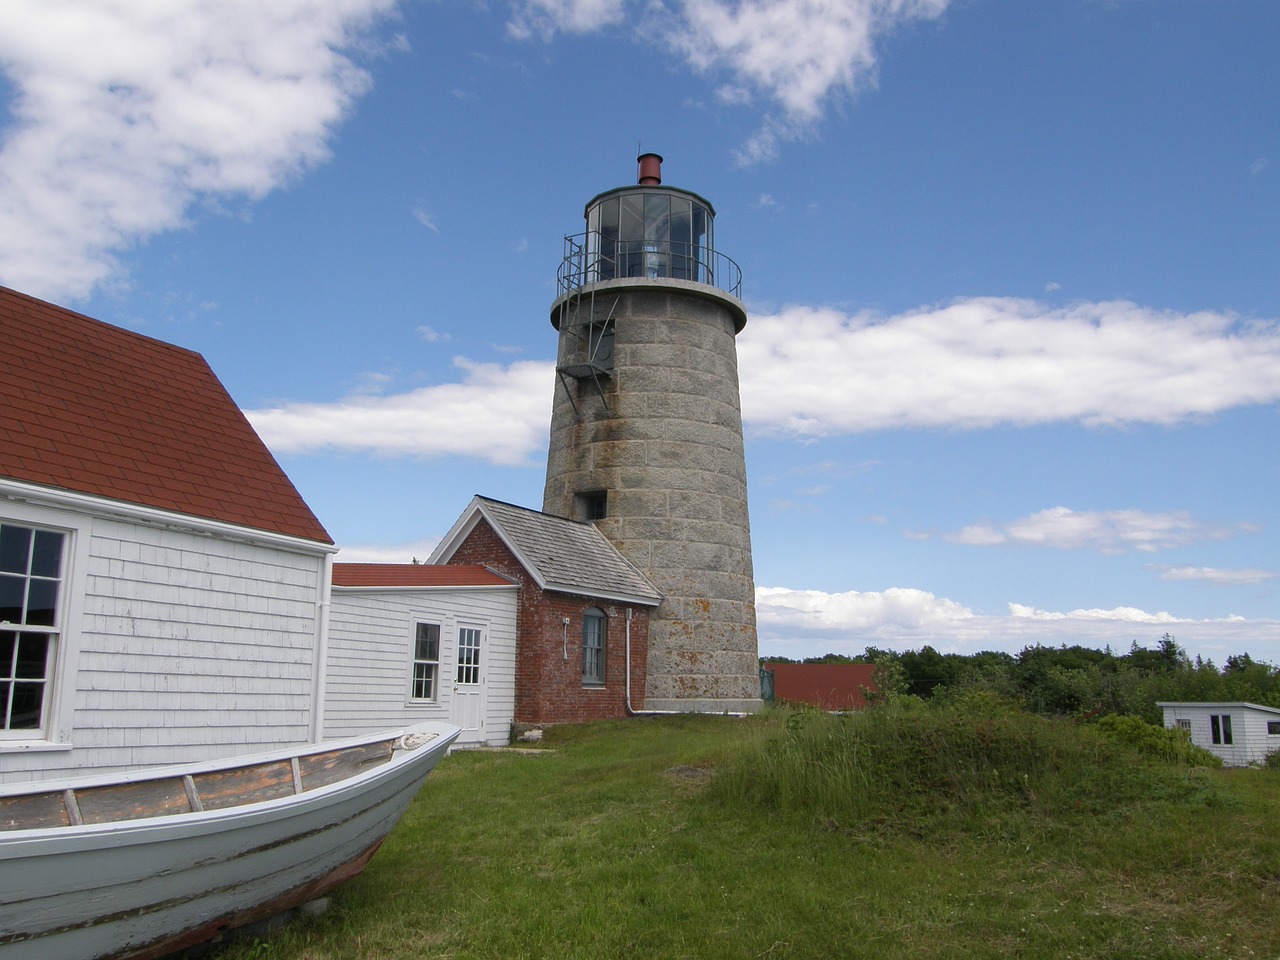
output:
M0 737L0 755L10 753L72 749L76 689L84 622L84 596L88 584L92 517L29 502L17 502L0 494L0 521L17 526L52 530L63 541L61 596L55 616L52 669L46 681L45 714L40 730L28 737Z

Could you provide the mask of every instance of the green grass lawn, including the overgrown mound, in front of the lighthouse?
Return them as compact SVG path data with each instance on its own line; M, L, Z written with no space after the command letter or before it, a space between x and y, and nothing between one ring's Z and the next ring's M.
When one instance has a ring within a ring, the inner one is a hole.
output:
M218 960L1280 956L1280 772L878 717L457 754L326 914Z

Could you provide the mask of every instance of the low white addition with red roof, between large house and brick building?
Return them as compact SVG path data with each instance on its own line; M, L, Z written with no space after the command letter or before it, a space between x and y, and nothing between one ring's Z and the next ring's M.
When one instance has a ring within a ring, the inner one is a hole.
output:
M481 566L334 563L325 735L422 719L502 746L516 710L520 585Z

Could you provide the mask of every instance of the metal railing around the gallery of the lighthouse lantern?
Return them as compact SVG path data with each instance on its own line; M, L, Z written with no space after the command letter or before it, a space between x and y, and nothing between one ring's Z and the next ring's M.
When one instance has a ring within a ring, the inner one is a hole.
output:
M564 238L556 274L558 296L590 283L623 278L705 283L741 300L742 270L723 253L675 241L620 241L599 233Z

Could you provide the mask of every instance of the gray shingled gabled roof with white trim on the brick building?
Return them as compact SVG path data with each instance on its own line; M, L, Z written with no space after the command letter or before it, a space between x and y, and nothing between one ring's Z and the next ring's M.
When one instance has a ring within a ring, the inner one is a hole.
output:
M475 497L428 563L447 563L481 521L544 590L657 607L653 584L591 524L564 520L488 497Z

